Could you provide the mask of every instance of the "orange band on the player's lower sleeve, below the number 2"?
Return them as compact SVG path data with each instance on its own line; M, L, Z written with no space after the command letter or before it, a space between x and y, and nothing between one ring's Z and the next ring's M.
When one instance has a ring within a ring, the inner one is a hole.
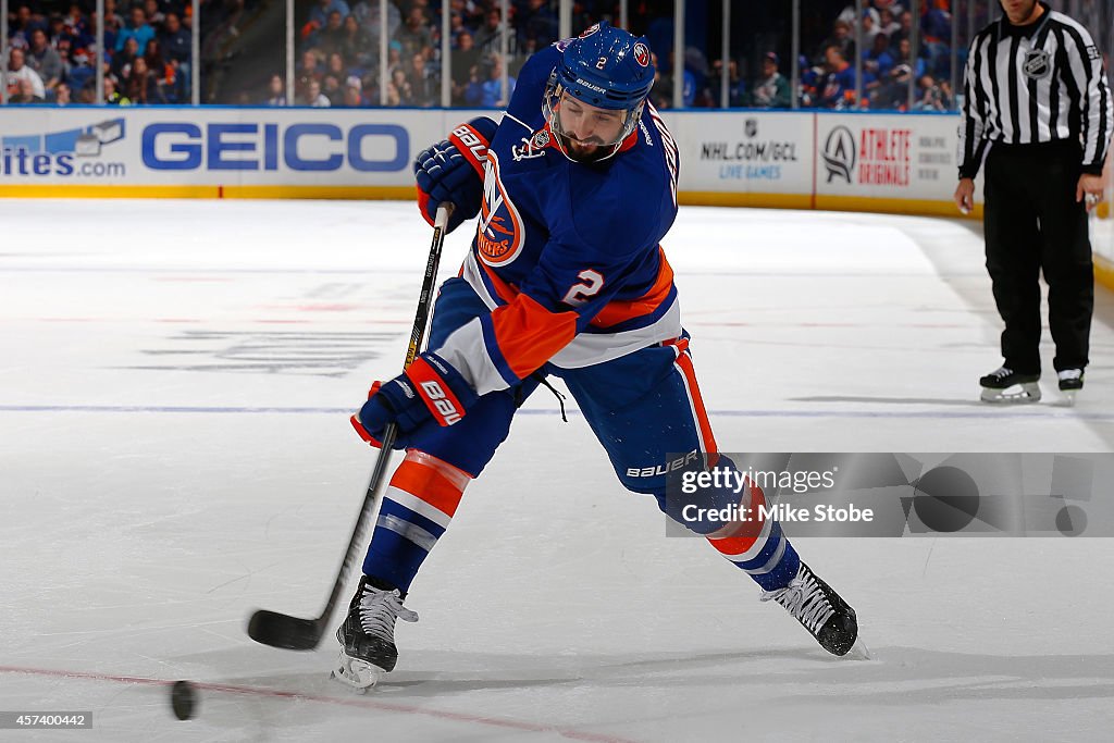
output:
M549 312L526 294L496 307L491 327L511 373L526 379L576 338L576 313Z

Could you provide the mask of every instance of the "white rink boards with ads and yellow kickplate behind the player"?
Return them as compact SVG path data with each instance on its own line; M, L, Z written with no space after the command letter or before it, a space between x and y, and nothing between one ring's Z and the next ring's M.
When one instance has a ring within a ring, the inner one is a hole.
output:
M491 111L8 109L0 195L398 198L410 163ZM957 117L664 113L690 204L950 214Z

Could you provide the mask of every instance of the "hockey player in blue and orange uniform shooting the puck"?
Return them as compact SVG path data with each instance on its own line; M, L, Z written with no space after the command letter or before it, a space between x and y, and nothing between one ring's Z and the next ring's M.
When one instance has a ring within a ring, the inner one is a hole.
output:
M687 522L665 472L734 467L717 453L659 242L677 212L677 146L647 104L645 39L606 23L534 55L500 124L477 118L422 151L426 219L479 216L458 277L441 285L429 348L372 387L353 424L378 444L397 423L405 458L383 497L364 576L336 632L334 675L367 687L394 668L394 624L466 486L545 378L573 393L629 490L707 537L829 652L858 636L854 610L798 557L772 520ZM673 452L671 454L671 452ZM724 504L730 491L704 496ZM756 487L746 505L763 502Z

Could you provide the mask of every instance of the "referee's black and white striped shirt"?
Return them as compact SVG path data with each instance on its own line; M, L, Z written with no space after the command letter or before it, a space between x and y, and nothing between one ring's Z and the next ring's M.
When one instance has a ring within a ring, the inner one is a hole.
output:
M959 177L974 178L990 143L1077 140L1084 173L1101 174L1114 130L1102 52L1051 10L1029 26L1003 16L971 41L959 125Z

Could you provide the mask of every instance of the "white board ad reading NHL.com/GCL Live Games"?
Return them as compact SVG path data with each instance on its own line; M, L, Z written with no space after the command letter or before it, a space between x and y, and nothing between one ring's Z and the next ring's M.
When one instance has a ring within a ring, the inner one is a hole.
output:
M812 190L812 114L674 113L666 125L681 149L682 189Z

